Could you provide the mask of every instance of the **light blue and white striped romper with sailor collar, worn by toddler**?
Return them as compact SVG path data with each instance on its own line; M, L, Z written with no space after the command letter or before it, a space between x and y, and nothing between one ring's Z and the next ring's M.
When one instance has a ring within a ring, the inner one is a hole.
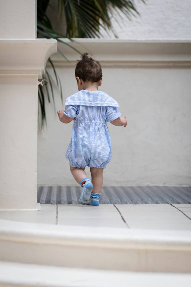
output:
M75 118L66 152L72 167L106 168L111 160L111 137L106 122L117 119L121 113L116 107L118 103L106 95L102 91L81 90L66 99L64 114Z

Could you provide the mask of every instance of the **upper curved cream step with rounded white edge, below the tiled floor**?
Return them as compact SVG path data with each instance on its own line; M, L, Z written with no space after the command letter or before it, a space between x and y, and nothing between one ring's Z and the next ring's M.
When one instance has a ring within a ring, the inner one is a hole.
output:
M67 268L191 272L191 231L0 220L0 260Z

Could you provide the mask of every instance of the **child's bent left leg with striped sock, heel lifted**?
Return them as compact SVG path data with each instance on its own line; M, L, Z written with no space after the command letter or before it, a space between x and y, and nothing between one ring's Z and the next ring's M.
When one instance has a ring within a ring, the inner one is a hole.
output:
M93 185L89 178L87 178L87 175L84 171L85 168L75 168L70 167L71 173L75 180L82 186L83 190L81 193L81 196L79 198L79 202L81 204L87 204L90 199L90 194L93 188Z

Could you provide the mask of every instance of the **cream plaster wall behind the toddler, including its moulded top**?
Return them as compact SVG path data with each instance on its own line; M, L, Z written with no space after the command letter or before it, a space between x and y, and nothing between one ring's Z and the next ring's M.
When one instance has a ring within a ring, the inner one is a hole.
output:
M190 43L92 43L87 39L83 45L102 64L104 81L99 89L117 100L128 120L126 128L108 123L113 156L104 170L104 185L190 185ZM114 55L117 47L120 51ZM63 51L71 64L58 54L51 58L65 102L77 91L74 70L79 56L71 49ZM63 107L56 94L59 110ZM72 123L61 123L52 105L47 103L46 109L47 128L38 140L38 184L76 185L65 158Z

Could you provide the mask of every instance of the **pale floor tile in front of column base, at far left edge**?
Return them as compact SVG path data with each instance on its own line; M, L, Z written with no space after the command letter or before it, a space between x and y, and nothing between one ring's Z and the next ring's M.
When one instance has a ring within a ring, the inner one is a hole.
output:
M56 212L0 212L0 219L55 224Z

